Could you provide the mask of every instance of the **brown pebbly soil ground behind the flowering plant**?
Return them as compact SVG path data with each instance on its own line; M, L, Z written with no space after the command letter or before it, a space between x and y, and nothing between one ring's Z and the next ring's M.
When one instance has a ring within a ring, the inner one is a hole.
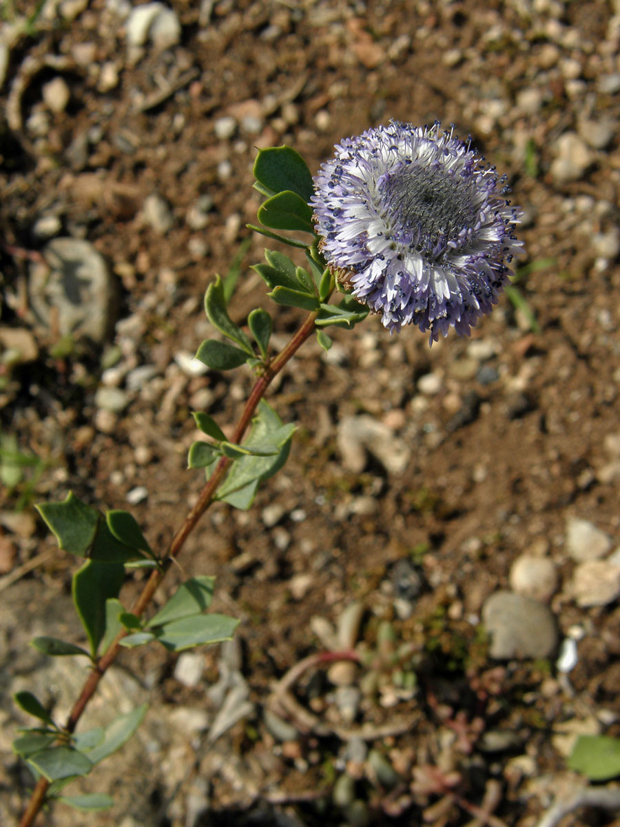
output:
M11 693L36 688L62 719L84 674L26 647L82 642L76 561L33 504L74 490L165 547L202 485L191 411L230 433L251 386L191 361L207 284L241 251L232 317L269 308L278 346L302 318L250 270L265 246L246 229L256 147L293 146L314 172L389 119L454 123L508 175L525 211L517 292L470 339L429 349L369 318L331 328L327 354L316 339L299 351L269 393L298 425L289 463L249 512L208 512L158 595L217 576L236 647L123 653L91 720L150 711L83 782L117 803L40 823L527 827L583 782L566 768L575 734L620 734L619 42L618 0L5 2L3 823L31 783ZM77 262L70 318L45 281L54 249ZM529 626L517 612L501 652L508 609L484 613L506 592L546 608ZM360 693L363 668L318 666L293 687L314 721L274 718L274 682L327 648L326 622L342 632L354 601L344 634L372 650L390 621L416 690L391 675Z

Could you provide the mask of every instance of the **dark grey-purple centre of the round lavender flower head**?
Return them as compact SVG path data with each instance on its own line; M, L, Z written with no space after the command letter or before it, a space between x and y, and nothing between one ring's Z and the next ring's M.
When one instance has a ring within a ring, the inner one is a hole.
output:
M476 209L470 179L441 167L412 166L386 176L384 205L389 225L401 235L413 233L413 244L431 252L473 227Z

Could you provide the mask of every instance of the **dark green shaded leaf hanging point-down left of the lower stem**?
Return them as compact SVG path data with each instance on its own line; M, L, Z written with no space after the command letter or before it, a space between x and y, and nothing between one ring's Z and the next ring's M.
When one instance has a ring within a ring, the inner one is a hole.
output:
M85 562L73 576L71 592L74 605L93 657L97 657L98 645L106 631L106 600L118 597L124 581L125 566L95 560Z

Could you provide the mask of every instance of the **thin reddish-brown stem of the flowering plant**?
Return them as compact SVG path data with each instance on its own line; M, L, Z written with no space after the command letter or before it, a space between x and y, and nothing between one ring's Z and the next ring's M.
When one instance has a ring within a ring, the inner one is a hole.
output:
M317 313L308 314L308 317L305 319L303 325L299 327L298 332L295 333L289 344L284 347L284 350L279 352L278 356L275 356L275 358L269 362L269 365L265 368L263 375L256 380L246 402L246 407L243 409L239 422L236 423L236 428L231 436L231 442L241 442L241 439L244 433L246 433L246 429L255 414L256 406L259 404L260 399L262 399L265 395L265 391L269 387L269 384L272 380L274 380L274 377L279 374L279 371L283 369L289 359L294 356L299 347L303 345L303 342L305 342L311 335L314 330L316 318ZM207 480L207 483L203 486L203 490L201 490L200 495L198 495L196 504L189 511L179 530L174 534L174 537L172 538L172 541L166 551L165 557L163 558L162 565L159 569L155 569L155 571L151 573L148 581L146 581L144 589L141 591L141 595L137 598L134 605L131 606L131 614L136 614L136 617L141 617L141 615L144 614L146 607L153 599L153 595L155 595L155 591L168 573L174 558L179 556L179 553L184 547L184 543L189 534L192 533L193 528L195 528L198 523L198 520L203 516L209 505L212 504L217 487L222 482L222 479L230 464L231 460L228 459L228 457L222 457L220 461L218 461L215 470ZM99 681L103 678L107 667L109 667L117 657L118 650L121 648L122 638L124 638L126 634L126 629L122 629L117 634L117 637L114 638L112 643L108 646L106 652L99 658L97 664L93 668L93 671L90 675L88 675L86 681L84 681L82 691L80 692L78 700L74 703L74 706L69 714L69 719L67 720L67 724L64 728L66 732L74 732L83 711L88 705L88 701L93 697L95 691L97 690ZM50 782L48 782L44 777L41 777L39 781L36 782L36 786L32 791L31 799L28 802L26 810L24 810L24 814L21 816L19 827L30 827L36 817L36 814L39 810L41 810L41 806L45 801L45 794L47 793L49 786Z

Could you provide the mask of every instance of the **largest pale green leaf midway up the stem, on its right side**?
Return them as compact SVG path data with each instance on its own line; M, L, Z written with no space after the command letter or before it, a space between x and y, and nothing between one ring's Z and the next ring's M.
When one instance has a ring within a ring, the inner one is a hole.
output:
M269 457L241 457L236 460L217 489L217 500L223 500L236 508L249 508L259 483L273 476L288 459L294 430L293 424L283 425L274 409L261 399L258 414L252 421L250 433L243 444L274 446L278 448L278 454ZM242 491L244 489L247 490Z

